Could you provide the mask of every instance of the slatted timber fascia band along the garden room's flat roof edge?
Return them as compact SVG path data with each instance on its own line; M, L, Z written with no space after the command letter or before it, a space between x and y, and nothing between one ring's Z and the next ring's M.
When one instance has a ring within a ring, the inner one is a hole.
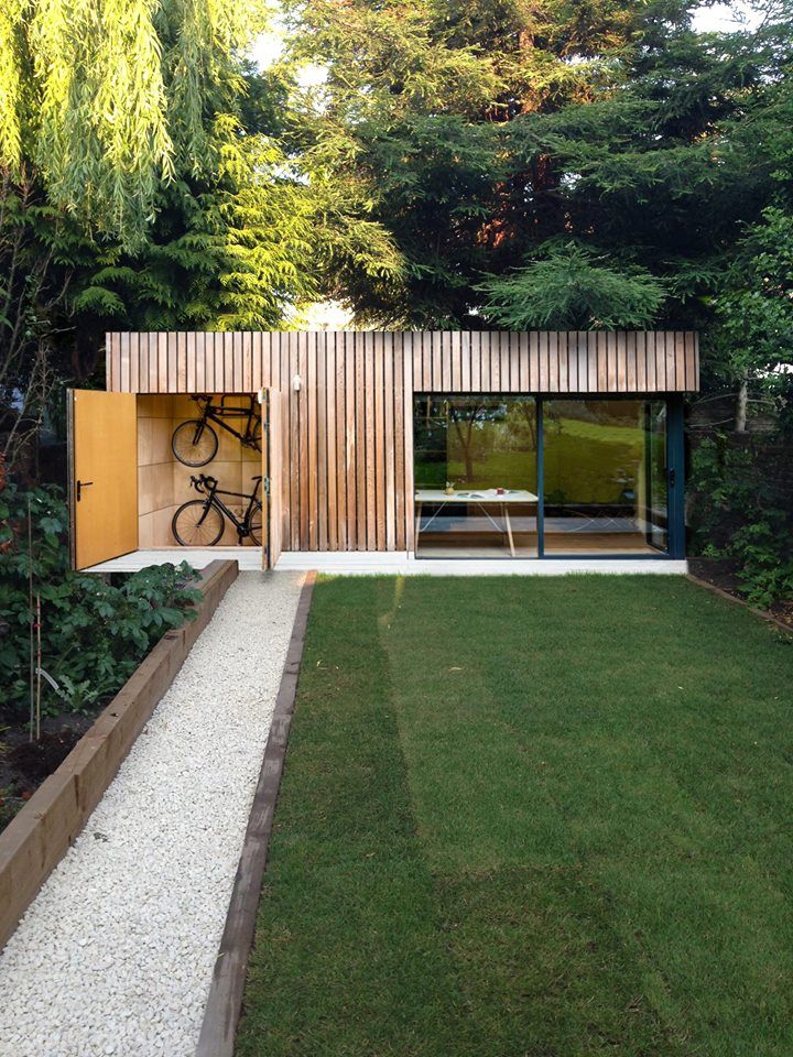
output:
M107 389L252 393L309 389L369 364L400 389L437 393L684 393L699 389L693 330L301 330L107 335ZM363 382L366 384L366 382Z

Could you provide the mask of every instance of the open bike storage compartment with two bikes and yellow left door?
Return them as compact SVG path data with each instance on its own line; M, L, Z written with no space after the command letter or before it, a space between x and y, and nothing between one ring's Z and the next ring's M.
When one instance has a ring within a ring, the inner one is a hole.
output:
M251 393L69 391L73 567L164 548L189 560L185 544L261 546L269 567L267 407ZM213 511L180 545L174 517L206 498L193 483L202 476L216 482Z

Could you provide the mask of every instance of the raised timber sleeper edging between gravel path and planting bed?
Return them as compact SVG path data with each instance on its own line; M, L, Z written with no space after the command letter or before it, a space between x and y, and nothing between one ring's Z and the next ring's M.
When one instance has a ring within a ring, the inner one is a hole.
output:
M211 562L197 584L198 615L166 632L94 726L0 833L0 949L88 817L237 579L237 562Z

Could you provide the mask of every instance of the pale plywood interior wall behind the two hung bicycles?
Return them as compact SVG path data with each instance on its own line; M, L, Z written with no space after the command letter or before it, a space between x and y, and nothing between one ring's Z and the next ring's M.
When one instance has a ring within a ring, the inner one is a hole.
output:
M182 503L199 498L191 486L191 475L206 473L216 477L221 488L249 492L253 487L251 477L261 473L259 453L242 447L219 426L213 426L219 443L211 462L196 468L180 462L171 449L171 438L180 423L196 416L196 408L195 402L183 395L138 397L138 546L141 548L177 545L171 530L173 515ZM245 502L224 499L229 506ZM237 542L237 533L227 521L218 545L233 546Z

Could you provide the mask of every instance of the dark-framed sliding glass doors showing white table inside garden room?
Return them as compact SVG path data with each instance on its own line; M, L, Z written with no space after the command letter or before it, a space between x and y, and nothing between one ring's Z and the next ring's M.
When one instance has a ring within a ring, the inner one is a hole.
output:
M419 395L416 556L680 557L682 431L666 400Z

